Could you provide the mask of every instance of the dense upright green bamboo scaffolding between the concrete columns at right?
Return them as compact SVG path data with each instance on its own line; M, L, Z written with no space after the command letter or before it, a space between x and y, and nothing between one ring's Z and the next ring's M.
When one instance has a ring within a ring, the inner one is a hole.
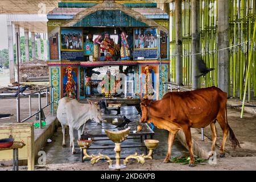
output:
M256 1L228 0L229 1L229 85L230 95L234 98L243 99L246 75L249 74L246 90L248 101L256 97L256 51L253 38L253 24L256 19ZM208 68L214 71L201 77L201 87L218 86L218 42L217 20L218 1L200 0L200 50L201 57ZM183 84L192 84L191 67L191 0L182 0L183 20ZM170 68L172 81L175 81L175 9L174 1L170 3L171 43L170 43ZM249 49L252 48L251 61L249 61ZM249 65L250 64L250 65Z

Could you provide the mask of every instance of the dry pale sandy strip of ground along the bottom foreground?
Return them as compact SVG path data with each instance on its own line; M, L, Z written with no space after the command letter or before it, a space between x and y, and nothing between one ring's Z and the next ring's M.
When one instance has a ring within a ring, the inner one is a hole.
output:
M0 167L0 171L12 170L12 167ZM27 170L26 166L19 167L20 171ZM35 166L36 171L113 171L108 168L108 163L100 161L97 164L85 163L65 163L65 164L48 164L46 166ZM175 163L162 163L162 160L147 160L146 163L137 164L129 162L127 168L123 170L133 171L238 171L238 170L256 170L256 157L237 157L237 158L217 158L217 164L197 165L188 167Z

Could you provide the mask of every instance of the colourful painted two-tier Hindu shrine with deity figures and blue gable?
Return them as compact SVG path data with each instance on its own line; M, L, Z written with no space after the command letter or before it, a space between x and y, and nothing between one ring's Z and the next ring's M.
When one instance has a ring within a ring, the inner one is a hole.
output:
M169 16L154 1L61 1L47 18L55 101L69 89L78 100L139 100L148 90L152 99L162 98L170 69ZM67 68L72 88L65 88Z

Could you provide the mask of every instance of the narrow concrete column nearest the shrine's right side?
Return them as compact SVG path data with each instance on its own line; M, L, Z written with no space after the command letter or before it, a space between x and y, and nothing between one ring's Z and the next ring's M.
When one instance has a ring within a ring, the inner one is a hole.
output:
M183 83L182 78L182 19L181 19L181 3L180 0L175 0L175 26L176 26L176 84Z

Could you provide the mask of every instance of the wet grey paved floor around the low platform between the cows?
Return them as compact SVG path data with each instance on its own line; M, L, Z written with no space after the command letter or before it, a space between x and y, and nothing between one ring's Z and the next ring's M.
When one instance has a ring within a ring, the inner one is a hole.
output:
M77 139L77 132L76 139ZM159 146L155 149L154 159L164 159L167 154L167 139L168 132L165 130L155 129L154 139L159 140ZM81 152L77 143L75 143L75 149L77 154L73 155L71 153L71 147L69 147L69 136L65 138L66 147L62 146L63 134L61 131L61 127L58 128L57 133L53 135L51 138L52 142L47 143L43 150L46 152L46 164L60 164L60 163L81 163ZM139 139L129 139L125 140L122 145L125 144L140 144ZM97 141L93 144L97 144L97 146L110 146L113 145L113 142L108 141ZM109 155L111 158L114 158L114 150L113 149L105 149L105 150L88 150L88 154L97 155L98 152L101 154ZM121 157L125 157L127 155L134 154L138 152L138 154L142 154L145 152L144 148L123 148L121 152ZM172 148L172 157L181 156L187 154L187 150L183 147L178 140L175 140L174 146Z

